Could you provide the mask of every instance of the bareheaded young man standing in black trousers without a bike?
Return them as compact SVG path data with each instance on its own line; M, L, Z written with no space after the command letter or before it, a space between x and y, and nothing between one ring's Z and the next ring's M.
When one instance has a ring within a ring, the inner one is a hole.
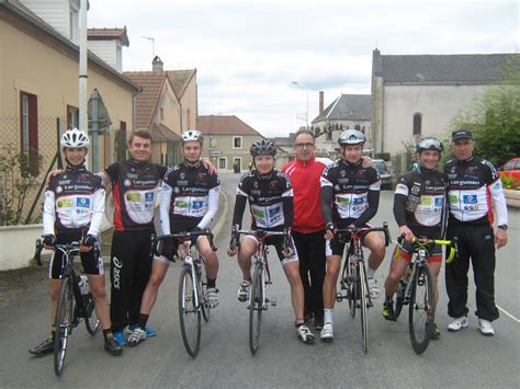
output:
M114 336L127 345L124 330L137 329L139 308L151 273L154 206L167 168L150 162L151 133L145 129L128 139L131 158L109 165L100 175L112 183L114 234L111 248L111 318ZM147 329L154 336L155 330Z

